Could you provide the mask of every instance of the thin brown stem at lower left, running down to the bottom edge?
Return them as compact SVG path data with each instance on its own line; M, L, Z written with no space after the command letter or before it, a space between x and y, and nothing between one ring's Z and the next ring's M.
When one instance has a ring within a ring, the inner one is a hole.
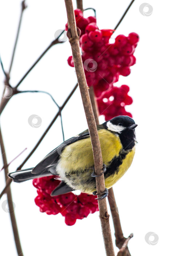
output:
M5 153L5 147L4 147L4 142L3 142L3 137L0 129L0 146L1 146L1 153L2 153L2 158L3 158L3 163L4 163L4 169L5 169L5 181L7 185L7 173L8 173L8 163L7 163L7 157ZM13 229L13 236L15 239L15 245L17 249L17 253L20 256L23 256L21 244L20 244L20 238L19 238L19 233L17 229L17 223L16 223L16 218L15 218L15 213L14 213L14 207L13 207L13 201L12 201L12 193L11 193L11 188L9 187L7 190L7 199L8 199L8 207L9 207L9 214L11 218L11 224L12 224L12 229Z

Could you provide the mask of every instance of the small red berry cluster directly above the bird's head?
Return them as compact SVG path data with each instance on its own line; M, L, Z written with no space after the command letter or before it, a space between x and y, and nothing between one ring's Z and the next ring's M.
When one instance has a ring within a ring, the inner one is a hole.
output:
M119 115L130 116L131 113L126 112L125 105L130 105L133 100L128 95L129 86L123 84L121 87L112 86L97 99L99 114L105 116L105 120Z

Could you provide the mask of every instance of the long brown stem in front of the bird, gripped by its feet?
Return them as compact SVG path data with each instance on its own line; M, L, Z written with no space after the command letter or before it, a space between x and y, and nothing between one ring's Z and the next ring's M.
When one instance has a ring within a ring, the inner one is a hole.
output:
M84 74L82 58L80 54L80 48L79 48L80 30L78 29L77 31L76 29L76 22L75 22L75 15L74 15L74 9L72 5L72 0L65 0L65 4L66 4L66 10L67 10L67 19L68 19L67 36L71 44L75 71L78 79L78 84L79 84L80 93L82 96L88 129L90 133L92 150L94 155L95 173L100 174L103 169L102 151L100 148L98 131L96 128L94 114L91 108L91 102L88 94L87 83L86 83L86 78ZM96 177L96 188L97 188L98 196L100 197L103 191L105 190L104 175ZM104 240L106 255L114 256L115 254L114 254L112 238L111 238L109 215L107 212L106 199L98 200L98 204L99 204L99 217L100 217L100 222L102 226L102 233L103 233L103 240Z

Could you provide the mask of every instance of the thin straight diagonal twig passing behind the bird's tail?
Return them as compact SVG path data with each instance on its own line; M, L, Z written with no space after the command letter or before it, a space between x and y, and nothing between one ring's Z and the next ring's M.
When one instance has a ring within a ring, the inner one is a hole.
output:
M69 99L71 98L71 96L74 94L75 90L78 87L78 83L75 85L74 89L71 91L71 93L68 95L68 97L66 98L66 100L64 101L63 105L60 107L60 110L58 111L58 113L56 114L56 116L53 118L53 120L51 121L50 125L47 127L46 131L43 133L43 135L41 136L41 138L39 139L39 141L36 143L35 147L33 148L33 150L29 153L29 155L24 159L24 161L21 163L21 165L17 168L17 170L20 170L24 164L28 161L28 159L31 157L31 155L34 153L34 151L37 149L37 147L39 146L39 144L41 143L41 141L44 139L44 137L46 136L47 132L50 130L50 128L52 127L52 125L54 124L55 120L58 118L58 116L60 116L61 111L63 110L63 108L66 106L67 102L69 101ZM7 191L8 186L11 184L12 179L11 178L7 178L7 183L5 188L3 189L3 191L0 193L0 199L3 196L3 194Z

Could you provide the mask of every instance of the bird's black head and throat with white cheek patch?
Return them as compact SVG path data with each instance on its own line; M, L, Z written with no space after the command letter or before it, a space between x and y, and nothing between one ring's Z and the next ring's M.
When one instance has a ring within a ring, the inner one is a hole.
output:
M116 116L104 123L106 128L119 135L123 149L132 149L135 146L135 128L137 124L129 116Z

